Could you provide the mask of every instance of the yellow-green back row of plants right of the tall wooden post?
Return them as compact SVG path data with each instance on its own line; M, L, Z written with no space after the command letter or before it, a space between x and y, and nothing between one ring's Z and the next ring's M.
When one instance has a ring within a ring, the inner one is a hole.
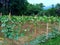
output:
M41 22L59 22L60 21L60 17L56 16L50 16L50 17L47 17L47 16L19 16L19 17L16 17L16 16L13 16L15 19L17 19L17 21L20 21L20 22L26 22L26 21L41 21Z

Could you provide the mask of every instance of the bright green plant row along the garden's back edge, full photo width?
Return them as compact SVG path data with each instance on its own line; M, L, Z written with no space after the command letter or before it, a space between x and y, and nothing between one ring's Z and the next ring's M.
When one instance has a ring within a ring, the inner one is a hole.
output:
M12 21L16 21L16 22L26 22L26 21L42 21L42 22L59 22L60 21L60 17L56 16L2 16L0 17L1 21L7 21L8 18L11 17Z

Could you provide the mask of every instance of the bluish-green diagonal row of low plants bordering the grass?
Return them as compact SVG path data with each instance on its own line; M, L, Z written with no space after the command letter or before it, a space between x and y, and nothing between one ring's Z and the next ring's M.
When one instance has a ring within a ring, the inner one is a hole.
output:
M30 42L25 43L24 45L45 45L48 40L55 39L60 35L60 32L57 29L53 29L52 32L48 33L47 37L46 34L42 34L40 36L37 36L34 40L31 40ZM53 42L52 42L53 43Z

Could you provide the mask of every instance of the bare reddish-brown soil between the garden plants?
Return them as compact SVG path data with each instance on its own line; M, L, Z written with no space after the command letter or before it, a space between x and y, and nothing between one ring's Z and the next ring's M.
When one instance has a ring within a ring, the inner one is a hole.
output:
M54 27L55 25L57 26L57 24L55 24L55 23L49 24L48 32L51 32L52 31L51 28ZM46 32L46 23L38 22L37 26L35 26L33 23L26 23L21 26L21 28L22 28L21 32L24 29L27 29L28 27L30 28L30 30L25 33L24 37L20 37L19 40L17 40L17 41L6 38L5 40L8 42L6 45L23 45L24 43L35 39L37 36L47 33ZM5 45L5 44L3 43L3 45Z

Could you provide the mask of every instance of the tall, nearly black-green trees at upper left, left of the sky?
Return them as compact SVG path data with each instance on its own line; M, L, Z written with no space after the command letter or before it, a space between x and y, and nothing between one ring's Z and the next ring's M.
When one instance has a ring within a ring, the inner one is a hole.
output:
M0 0L0 2L2 2L3 5L3 14L8 14L9 12L11 12L12 15L24 14L28 3L27 0Z

